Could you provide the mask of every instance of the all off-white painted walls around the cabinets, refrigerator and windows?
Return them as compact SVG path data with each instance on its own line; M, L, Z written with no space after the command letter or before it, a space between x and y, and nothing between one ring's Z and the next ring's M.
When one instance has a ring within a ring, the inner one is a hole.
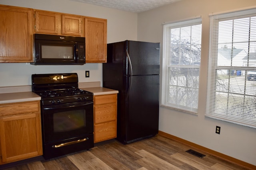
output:
M44 2L39 0L1 0L1 4L107 19L108 43L126 39L162 43L163 22L202 16L202 23L205 26L202 29L204 37L202 39L204 45L202 45L202 56L204 57L201 62L206 66L209 44L208 14L249 8L255 6L256 2L254 0L242 2L239 0L214 2L182 0L138 14L70 0ZM85 77L85 70L90 70L89 78ZM202 104L198 108L198 116L160 107L159 130L255 165L255 129L204 118L207 68L202 66L201 70L204 70L200 73L202 79L200 80L199 102ZM0 82L0 87L31 85L31 74L52 72L77 72L79 82L100 82L100 86L102 86L102 64L98 63L87 63L83 66L33 66L30 63L0 63L0 77L4 80ZM216 125L222 127L223 135L216 136L214 133ZM232 141L231 144L230 141Z

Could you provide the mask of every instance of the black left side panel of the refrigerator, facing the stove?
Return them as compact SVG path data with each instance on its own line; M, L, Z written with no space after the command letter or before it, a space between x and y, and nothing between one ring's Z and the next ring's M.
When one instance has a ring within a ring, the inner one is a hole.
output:
M102 64L103 87L118 90L117 94L117 139L124 141L126 135L126 94L129 88L127 66L124 64L126 56L126 41L109 43L107 63Z

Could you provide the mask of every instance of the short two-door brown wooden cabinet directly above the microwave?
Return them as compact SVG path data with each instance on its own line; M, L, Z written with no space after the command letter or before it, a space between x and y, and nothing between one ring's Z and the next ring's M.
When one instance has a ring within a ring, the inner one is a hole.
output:
M82 16L34 10L34 33L82 37Z

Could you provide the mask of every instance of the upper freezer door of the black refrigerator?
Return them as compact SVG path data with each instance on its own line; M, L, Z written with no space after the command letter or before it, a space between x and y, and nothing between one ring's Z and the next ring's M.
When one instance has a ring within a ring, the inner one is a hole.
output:
M153 75L160 71L160 43L126 41L128 75ZM129 62L130 57L130 62ZM130 65L131 63L131 65Z

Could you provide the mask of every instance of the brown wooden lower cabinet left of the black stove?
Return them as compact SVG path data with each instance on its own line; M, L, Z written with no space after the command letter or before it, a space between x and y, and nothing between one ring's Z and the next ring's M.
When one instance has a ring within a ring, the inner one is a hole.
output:
M0 104L0 164L42 155L40 101Z

